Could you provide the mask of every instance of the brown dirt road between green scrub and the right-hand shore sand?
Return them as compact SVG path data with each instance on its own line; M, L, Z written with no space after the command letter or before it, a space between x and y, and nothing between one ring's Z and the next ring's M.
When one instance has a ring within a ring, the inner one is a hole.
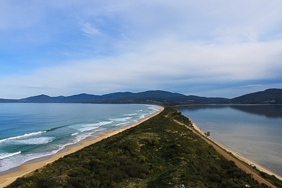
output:
M201 135L198 131L196 131L194 128L185 125L177 120L174 120L175 122L177 122L180 125L184 125L185 127L187 127L188 129L190 129L193 133L195 133L196 135L198 135L199 137L202 137L207 143L209 143L210 145L212 145L216 151L223 155L226 159L228 160L232 160L235 162L235 164L237 165L237 167L239 167L240 169L242 169L243 171L246 171L247 173L250 173L250 166L244 162L242 162L241 160L239 160L238 158L236 158L235 156L233 156L232 154L228 153L226 150L224 150L222 147L220 147L219 145L217 145L216 143L212 142L211 140L209 140L206 137L203 137L203 135ZM276 188L276 186L274 186L273 184L271 184L270 182L268 182L267 180L265 180L263 177L261 177L258 173L256 173L255 171L252 171L252 177L254 179L256 179L260 184L264 183L268 186L271 186L272 188Z

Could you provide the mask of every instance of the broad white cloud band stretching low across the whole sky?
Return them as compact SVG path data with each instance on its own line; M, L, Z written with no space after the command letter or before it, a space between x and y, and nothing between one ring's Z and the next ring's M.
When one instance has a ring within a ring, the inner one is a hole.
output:
M36 88L53 95L103 94L137 87L157 89L174 85L181 88L191 84L280 77L269 73L279 69L269 62L275 62L274 58L280 54L281 41L211 46L165 38L146 42L137 52L41 68L30 75L7 78L1 84L24 86L27 90Z

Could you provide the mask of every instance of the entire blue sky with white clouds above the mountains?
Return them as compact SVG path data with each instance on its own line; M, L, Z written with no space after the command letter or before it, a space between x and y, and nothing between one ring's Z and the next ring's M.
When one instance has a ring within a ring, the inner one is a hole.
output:
M0 98L282 88L281 0L1 0Z

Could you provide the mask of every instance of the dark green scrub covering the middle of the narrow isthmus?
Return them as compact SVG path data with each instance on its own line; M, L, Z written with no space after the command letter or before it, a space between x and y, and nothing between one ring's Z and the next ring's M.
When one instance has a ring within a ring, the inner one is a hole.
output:
M170 112L170 113L169 113ZM8 188L267 188L167 115L68 154ZM183 121L188 121L187 118Z

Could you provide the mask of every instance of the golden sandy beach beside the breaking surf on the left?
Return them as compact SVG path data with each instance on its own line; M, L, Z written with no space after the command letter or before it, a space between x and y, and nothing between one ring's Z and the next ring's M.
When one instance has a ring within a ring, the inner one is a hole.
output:
M86 146L89 146L93 143L99 142L100 140L107 138L107 137L111 137L113 135L116 135L117 133L120 133L126 129L129 129L131 127L134 127L146 120L148 120L149 118L159 114L160 112L162 112L164 110L164 108L162 106L159 106L160 110L158 112L156 112L155 114L152 114L151 116L144 118L132 125L126 126L126 127L122 127L121 129L116 129L116 130L110 130L110 131L105 131L104 133L101 133L99 135L99 137L88 137L84 140L82 140L81 142L78 142L76 144L73 145L69 145L67 146L62 152L58 152L57 154L53 154L50 155L50 157L48 157L47 159L43 159L43 160L35 160L35 162L27 162L23 165L20 165L19 167L17 167L16 171L11 171L8 173L5 173L3 175L0 175L0 188L3 188L9 184L11 184L12 182L14 182L18 177L21 177L25 174L28 174L30 172L35 171L36 169L39 169L51 162L54 162L55 160L67 155L67 154L71 154L73 152L76 152Z

